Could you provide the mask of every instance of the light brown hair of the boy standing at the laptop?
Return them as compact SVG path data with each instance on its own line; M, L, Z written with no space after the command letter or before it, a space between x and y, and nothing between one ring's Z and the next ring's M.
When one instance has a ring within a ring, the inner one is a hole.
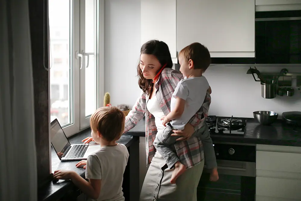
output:
M105 140L119 140L124 131L125 115L117 107L101 107L90 118L93 132L98 131Z

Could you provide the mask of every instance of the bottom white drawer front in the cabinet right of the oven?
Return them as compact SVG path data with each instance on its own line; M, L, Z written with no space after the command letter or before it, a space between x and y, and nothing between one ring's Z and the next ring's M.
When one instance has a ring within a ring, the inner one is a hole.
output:
M256 197L267 196L300 200L300 187L300 180L256 177Z

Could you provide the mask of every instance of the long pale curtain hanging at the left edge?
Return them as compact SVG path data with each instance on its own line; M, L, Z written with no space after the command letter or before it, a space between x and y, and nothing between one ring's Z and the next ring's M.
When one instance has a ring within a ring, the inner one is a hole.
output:
M28 0L0 0L0 200L37 200Z

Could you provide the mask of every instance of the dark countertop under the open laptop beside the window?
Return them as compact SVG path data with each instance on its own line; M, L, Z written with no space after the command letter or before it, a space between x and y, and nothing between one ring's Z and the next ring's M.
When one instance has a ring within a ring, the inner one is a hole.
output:
M82 144L82 139L91 136L91 130L87 129L71 136L69 139L71 144ZM137 137L131 135L123 135L117 141L118 143L126 145L129 147L135 140L138 140ZM54 149L51 147L51 170L54 173L55 170L73 170L78 173L80 176L85 178L85 170L83 168L76 168L75 164L79 161L60 161L57 157ZM59 180L58 182L49 182L39 190L38 200L52 200L56 195L64 194L69 190L72 190L74 184L70 180Z

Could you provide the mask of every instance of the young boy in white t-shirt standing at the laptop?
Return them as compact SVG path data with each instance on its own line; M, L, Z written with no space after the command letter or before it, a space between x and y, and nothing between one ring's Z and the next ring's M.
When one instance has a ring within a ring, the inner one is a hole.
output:
M92 199L122 201L123 173L129 158L125 145L116 143L123 133L125 116L117 107L101 107L90 119L91 136L101 148L81 161L85 165L87 182L74 171L57 170L54 179L71 179L82 192Z

